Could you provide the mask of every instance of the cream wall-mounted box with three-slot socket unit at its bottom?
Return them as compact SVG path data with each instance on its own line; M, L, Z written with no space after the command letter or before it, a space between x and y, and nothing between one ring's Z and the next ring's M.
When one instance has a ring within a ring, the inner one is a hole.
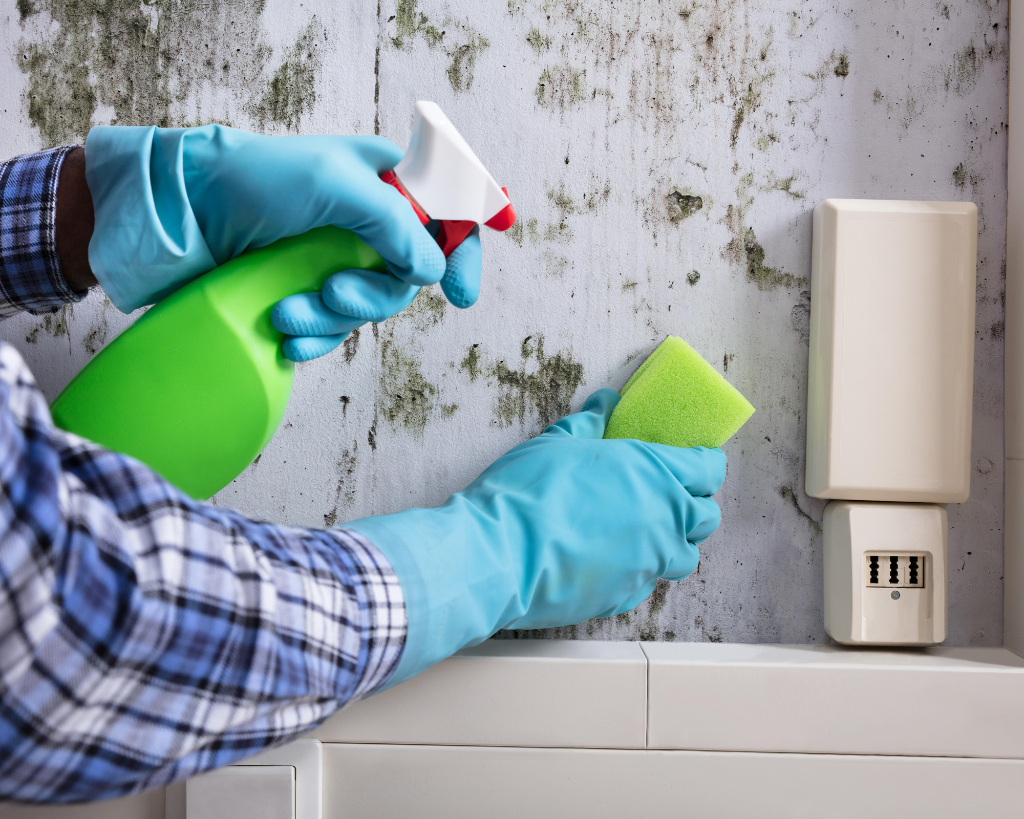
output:
M978 209L814 209L806 490L825 508L825 631L946 635L946 512L971 491Z

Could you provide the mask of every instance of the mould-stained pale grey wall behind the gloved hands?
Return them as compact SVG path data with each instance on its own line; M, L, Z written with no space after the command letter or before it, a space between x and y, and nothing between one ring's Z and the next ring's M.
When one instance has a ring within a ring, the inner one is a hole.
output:
M950 508L948 643L1000 644L1006 2L5 8L6 155L110 123L404 144L426 98L511 191L520 222L484 235L479 303L425 291L300 365L282 429L217 504L315 526L437 504L667 334L751 399L698 572L558 637L826 641L822 504L802 490L811 209L973 200L975 469ZM130 320L93 293L0 336L52 397Z

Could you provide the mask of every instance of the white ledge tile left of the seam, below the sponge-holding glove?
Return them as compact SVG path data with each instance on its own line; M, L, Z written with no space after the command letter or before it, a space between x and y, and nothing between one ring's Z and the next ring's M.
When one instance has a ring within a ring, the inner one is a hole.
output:
M642 748L646 693L638 643L492 640L355 703L310 736Z

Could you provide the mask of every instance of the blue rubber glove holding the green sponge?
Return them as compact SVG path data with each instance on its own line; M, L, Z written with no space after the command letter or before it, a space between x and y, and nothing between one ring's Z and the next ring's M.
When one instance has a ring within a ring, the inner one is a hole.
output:
M436 509L344 524L391 562L409 632L388 685L499 629L629 611L696 568L719 524L721 449L602 440L618 393L521 443Z

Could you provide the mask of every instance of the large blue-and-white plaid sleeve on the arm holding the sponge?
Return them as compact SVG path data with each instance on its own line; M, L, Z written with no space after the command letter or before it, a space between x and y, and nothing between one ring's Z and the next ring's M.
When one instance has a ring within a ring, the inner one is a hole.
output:
M257 523L56 429L0 344L0 800L164 785L381 686L406 637L386 558Z

